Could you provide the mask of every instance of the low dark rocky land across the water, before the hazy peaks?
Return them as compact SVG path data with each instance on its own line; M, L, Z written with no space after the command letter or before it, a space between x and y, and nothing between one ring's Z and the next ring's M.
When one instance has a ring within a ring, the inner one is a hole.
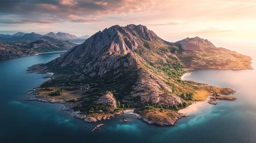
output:
M76 44L48 37L35 41L22 41L14 43L0 42L0 60L21 58L38 53L66 51Z

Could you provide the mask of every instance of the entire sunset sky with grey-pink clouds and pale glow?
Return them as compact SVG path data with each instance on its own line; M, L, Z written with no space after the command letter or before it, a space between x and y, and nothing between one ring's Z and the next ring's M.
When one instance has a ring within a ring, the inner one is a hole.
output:
M93 35L144 25L167 41L256 43L256 0L0 0L0 33Z

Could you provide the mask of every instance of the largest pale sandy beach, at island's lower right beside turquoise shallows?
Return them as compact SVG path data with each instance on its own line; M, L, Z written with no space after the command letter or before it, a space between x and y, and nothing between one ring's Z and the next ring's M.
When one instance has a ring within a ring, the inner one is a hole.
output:
M208 104L207 101L210 99L210 97L207 98L206 101L198 101L198 102L194 102L192 105L189 105L187 108L181 109L179 110L180 113L183 114L190 114L193 112L196 112L198 110L198 108L204 104Z

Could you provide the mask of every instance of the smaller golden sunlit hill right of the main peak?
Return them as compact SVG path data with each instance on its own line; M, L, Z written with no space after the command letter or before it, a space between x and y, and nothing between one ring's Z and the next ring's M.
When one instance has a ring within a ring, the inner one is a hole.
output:
M199 37L186 38L175 44L180 47L176 56L187 68L252 69L251 57L215 47Z

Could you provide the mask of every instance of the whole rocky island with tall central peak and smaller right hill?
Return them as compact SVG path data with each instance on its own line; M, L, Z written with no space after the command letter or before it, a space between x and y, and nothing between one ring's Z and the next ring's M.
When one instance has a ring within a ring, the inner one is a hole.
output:
M171 126L185 116L176 111L196 101L200 91L235 92L182 81L184 68L251 69L250 61L199 37L168 42L145 26L128 25L99 31L61 57L30 67L28 73L55 73L54 80L42 84L38 93L66 101L72 94L72 110L90 119L99 121L133 107L142 121Z

